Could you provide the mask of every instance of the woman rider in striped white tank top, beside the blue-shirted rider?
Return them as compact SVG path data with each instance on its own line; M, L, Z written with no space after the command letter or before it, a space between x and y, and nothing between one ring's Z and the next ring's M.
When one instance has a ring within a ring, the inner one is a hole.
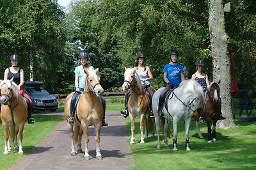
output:
M140 76L140 80L141 80L141 85L142 87L146 90L146 93L148 95L148 97L150 98L150 102L149 102L149 110L150 110L150 117L154 117L154 113L152 111L152 96L154 94L153 90L150 87L150 80L153 80L153 75L150 71L150 68L148 66L145 66L145 55L144 53L137 53L136 55L136 73L138 73L138 75ZM123 117L128 117L129 112L127 110L127 103L128 103L128 99L130 97L130 92L127 92L127 94L125 94L125 110L120 111L121 115Z

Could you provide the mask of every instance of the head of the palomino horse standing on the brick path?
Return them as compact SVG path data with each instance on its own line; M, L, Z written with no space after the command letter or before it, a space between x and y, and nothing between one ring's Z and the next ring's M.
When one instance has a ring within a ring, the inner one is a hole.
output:
M84 73L86 74L87 90L95 93L97 96L104 93L104 89L102 89L100 85L100 77L97 75L98 71L99 69L84 69Z

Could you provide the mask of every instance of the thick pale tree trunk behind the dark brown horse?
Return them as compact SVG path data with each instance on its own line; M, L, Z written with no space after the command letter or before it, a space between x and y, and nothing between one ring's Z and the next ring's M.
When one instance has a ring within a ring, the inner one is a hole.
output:
M228 57L228 36L225 32L223 0L209 0L209 32L211 36L213 81L220 83L221 111L226 120L218 121L218 127L234 127L231 106L230 59Z

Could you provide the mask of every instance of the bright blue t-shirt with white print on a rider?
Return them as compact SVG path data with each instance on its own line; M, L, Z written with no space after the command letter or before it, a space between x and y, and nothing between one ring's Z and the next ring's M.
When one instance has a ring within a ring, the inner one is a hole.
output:
M181 82L180 73L183 73L184 69L180 64L172 65L169 63L164 66L163 72L167 73L168 80L174 86L178 86Z

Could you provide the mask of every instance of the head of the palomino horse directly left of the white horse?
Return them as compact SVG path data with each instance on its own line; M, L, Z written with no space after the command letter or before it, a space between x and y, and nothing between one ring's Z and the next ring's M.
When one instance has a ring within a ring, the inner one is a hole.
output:
M122 85L123 90L130 90L132 87L132 83L135 79L135 73L136 73L136 67L133 68L127 68L125 67L124 72L124 83Z

